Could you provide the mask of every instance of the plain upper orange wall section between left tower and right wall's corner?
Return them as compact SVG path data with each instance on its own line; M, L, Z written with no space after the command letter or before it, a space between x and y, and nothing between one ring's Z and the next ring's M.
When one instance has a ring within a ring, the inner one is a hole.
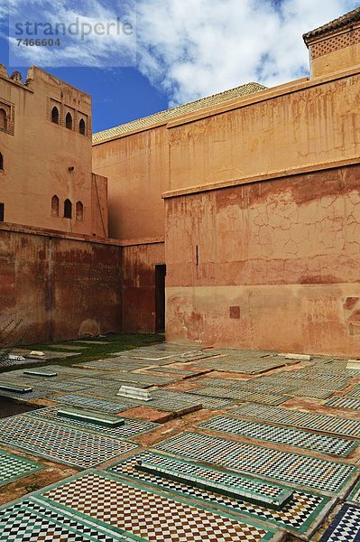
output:
M94 145L93 170L109 179L110 238L163 236L168 161L165 126Z

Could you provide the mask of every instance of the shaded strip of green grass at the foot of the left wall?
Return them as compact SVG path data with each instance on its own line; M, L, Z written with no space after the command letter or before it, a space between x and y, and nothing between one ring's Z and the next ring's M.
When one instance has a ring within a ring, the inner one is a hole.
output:
M91 341L90 339L84 339L84 341ZM133 350L134 348L139 348L141 346L149 346L151 344L157 344L164 341L163 335L158 335L156 333L122 333L115 334L110 333L106 337L94 337L93 341L104 341L104 344L84 344L80 340L78 341L61 341L59 344L69 344L74 347L74 351L77 346L87 346L88 348L81 350L79 356L74 358L64 358L59 360L43 360L42 363L39 360L29 360L29 363L22 365L22 369L31 368L31 367L42 367L44 365L78 365L79 363L85 363L88 361L102 360L112 357L115 352L123 350ZM29 350L51 350L53 352L70 352L71 350L62 349L57 347L57 343L51 344L30 344L22 346L24 349ZM7 367L5 370L16 369L16 366Z

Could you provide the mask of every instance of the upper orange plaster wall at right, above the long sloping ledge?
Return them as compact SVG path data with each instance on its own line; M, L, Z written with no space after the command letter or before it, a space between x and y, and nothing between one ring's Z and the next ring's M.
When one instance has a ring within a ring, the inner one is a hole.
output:
M174 121L169 190L246 182L246 177L357 157L360 75L318 83L297 87L294 81L292 89L265 90L245 107Z

